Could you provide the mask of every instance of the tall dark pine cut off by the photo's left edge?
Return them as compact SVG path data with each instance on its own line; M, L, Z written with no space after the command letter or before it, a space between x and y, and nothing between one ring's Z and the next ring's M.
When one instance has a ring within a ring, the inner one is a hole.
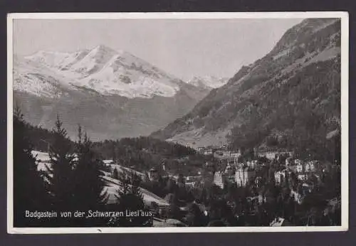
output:
M48 193L28 139L26 122L19 107L14 110L14 226L43 225L42 220L26 220L26 210L48 210Z

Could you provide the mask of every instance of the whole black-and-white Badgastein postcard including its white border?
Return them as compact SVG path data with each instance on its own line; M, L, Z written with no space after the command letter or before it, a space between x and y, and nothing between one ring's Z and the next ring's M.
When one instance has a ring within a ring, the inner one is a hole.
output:
M8 232L348 228L344 12L9 14Z

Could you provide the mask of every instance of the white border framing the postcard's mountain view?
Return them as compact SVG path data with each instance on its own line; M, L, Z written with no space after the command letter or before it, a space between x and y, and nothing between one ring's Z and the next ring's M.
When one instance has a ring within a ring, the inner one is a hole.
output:
M341 18L341 206L340 226L305 227L191 227L191 228L14 228L13 218L13 21L14 19L229 19L229 18ZM349 15L347 12L246 13L14 13L7 16L7 231L14 234L150 233L150 232L333 232L348 230L349 223Z

